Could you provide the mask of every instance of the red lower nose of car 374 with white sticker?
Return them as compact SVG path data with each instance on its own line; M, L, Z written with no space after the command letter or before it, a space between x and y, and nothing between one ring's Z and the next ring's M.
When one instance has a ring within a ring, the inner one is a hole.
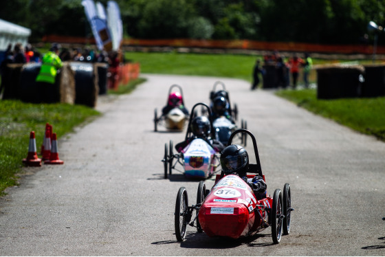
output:
M248 208L241 203L231 206L203 204L199 210L199 223L210 237L224 236L236 239L245 236L249 231L252 225L249 221L254 220L254 212L250 214Z

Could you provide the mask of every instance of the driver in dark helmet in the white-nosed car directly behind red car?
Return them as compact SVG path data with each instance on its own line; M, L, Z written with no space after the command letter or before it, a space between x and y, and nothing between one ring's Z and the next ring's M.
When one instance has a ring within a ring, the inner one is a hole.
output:
M195 117L191 122L191 131L192 136L185 140L184 142L180 142L175 145L175 149L178 151L178 153L181 152L190 142L195 138L201 138L205 140L216 152L220 152L225 148L221 142L219 142L216 139L212 139L210 137L210 121L206 116L198 116Z

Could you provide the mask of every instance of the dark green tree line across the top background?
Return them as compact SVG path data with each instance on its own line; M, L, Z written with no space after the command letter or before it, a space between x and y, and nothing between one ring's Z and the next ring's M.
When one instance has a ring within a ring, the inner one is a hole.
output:
M107 0L100 0L104 6ZM369 21L385 25L385 0L116 0L125 36L366 43ZM0 19L45 34L91 36L81 0L3 1ZM383 33L385 34L385 32ZM379 43L385 45L380 34Z

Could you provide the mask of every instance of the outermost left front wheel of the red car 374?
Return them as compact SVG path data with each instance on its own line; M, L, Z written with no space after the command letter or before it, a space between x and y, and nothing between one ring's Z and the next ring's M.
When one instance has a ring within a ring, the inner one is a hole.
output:
M175 236L177 241L184 241L186 236L186 214L188 212L187 190L184 187L179 188L177 202L175 203Z

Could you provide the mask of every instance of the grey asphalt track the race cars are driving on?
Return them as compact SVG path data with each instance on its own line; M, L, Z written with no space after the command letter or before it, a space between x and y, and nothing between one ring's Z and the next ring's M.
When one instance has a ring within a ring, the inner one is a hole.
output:
M1 256L385 255L383 142L271 91L250 91L242 80L145 77L130 95L100 98L104 115L58 142L63 166L25 168L30 175L7 190L0 201ZM198 182L181 173L163 179L164 144L180 142L184 133L154 133L153 111L166 104L170 85L183 87L190 109L208 102L217 80L256 136L267 192L291 185L292 230L278 245L270 228L233 241L188 227L186 241L176 242L177 190L185 186L192 204Z

